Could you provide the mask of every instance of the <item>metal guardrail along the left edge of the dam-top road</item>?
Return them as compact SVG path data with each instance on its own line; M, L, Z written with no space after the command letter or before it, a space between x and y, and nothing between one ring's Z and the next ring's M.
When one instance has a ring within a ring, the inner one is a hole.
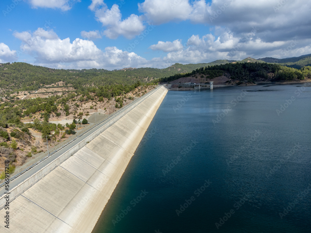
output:
M118 114L120 111L132 106L133 104L135 104L137 101L139 101L142 97L146 97L146 95L151 95L151 93L155 92L156 88L153 89L152 91L148 92L145 95L142 95L141 97L133 100L131 103L129 103L128 105L123 106L122 108L120 108L117 112L114 112L112 115L110 115L108 118L106 118L103 121L100 121L99 123L95 123L95 126L91 127L90 129L86 130L85 132L82 132L80 135L77 135L77 137L75 137L74 139L72 139L71 141L67 142L66 144L64 144L63 146L61 146L60 148L54 150L52 153L49 153L46 157L44 157L43 159L39 160L38 162L36 162L35 164L31 165L30 167L27 167L25 170L21 171L20 173L16 174L15 176L13 176L11 179L9 179L6 182L3 182L2 184L0 184L0 188L2 188L7 182L11 182L12 180L15 180L17 177L21 176L22 174L24 174L26 171L29 171L31 168L37 166L39 163L43 162L45 159L49 158L50 156L52 156L54 153L58 152L59 150L63 149L64 147L66 147L67 145L69 145L70 143L74 142L75 140L77 140L78 138L80 138L82 135L85 135L87 132L91 131L92 129L94 129L96 126L99 126L100 124L102 124L105 121L108 121L110 119L110 117L115 116L116 114Z

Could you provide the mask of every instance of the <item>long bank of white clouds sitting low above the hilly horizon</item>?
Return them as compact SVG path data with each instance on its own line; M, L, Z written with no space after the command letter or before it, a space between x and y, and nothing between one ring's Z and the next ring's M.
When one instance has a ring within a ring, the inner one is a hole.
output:
M157 67L165 68L176 62L201 63L218 59L242 60L251 56L291 57L311 53L311 39L300 41L266 42L256 37L255 33L234 36L228 30L217 29L220 34L206 34L202 37L192 35L185 45L181 40L161 42L151 45L151 49L168 52L165 57L147 60L136 53L123 51L116 47L97 48L93 41L69 38L60 39L53 30L14 32L14 36L22 41L21 51L35 57L35 64L51 68L104 68L109 70L124 67ZM278 55L278 56L277 56ZM16 59L16 51L0 43L0 59L2 62Z

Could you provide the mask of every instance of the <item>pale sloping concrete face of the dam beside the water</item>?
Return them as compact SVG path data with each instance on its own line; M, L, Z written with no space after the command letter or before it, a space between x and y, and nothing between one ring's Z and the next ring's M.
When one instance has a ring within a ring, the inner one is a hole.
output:
M91 232L164 99L164 86L125 111L25 192L0 232ZM17 191L16 191L17 192ZM0 216L5 216L4 208Z

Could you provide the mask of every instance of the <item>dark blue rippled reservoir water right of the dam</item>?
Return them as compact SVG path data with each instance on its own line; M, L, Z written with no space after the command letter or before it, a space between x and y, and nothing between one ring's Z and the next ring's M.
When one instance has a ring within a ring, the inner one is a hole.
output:
M311 232L310 101L310 85L169 91L93 232Z

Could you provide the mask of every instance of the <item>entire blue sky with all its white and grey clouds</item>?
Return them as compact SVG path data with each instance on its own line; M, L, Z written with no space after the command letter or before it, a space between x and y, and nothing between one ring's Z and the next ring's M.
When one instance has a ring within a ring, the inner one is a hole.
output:
M311 53L309 0L1 0L0 63L165 68Z

